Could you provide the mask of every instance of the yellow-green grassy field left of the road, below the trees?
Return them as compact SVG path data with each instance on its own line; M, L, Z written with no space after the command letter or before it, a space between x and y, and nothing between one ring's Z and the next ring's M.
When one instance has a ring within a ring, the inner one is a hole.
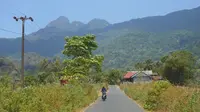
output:
M0 112L77 112L98 97L102 84L47 84L12 90L0 83Z

